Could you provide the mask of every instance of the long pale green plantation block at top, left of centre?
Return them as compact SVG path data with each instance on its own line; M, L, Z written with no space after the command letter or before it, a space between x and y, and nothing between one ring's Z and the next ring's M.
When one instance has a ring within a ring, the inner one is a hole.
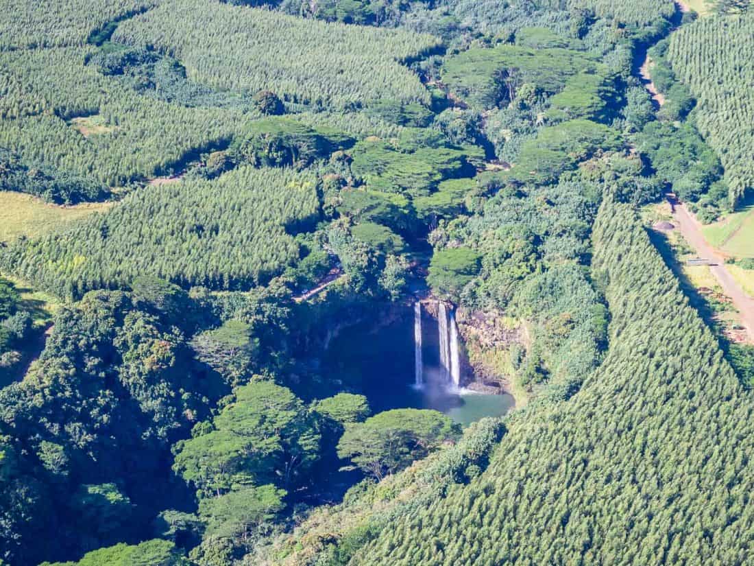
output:
M113 39L153 45L213 88L270 89L300 103L341 106L382 98L428 102L418 78L398 61L437 45L428 35L307 23L204 0L165 2L122 23Z

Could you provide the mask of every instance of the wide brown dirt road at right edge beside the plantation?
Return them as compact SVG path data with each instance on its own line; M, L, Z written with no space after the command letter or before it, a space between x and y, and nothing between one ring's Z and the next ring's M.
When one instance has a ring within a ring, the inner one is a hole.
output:
M676 220L676 226L685 241L691 248L694 248L698 257L713 261L714 265L710 265L710 271L718 280L722 291L733 301L733 305L738 310L741 325L746 327L749 341L754 343L754 299L743 291L728 271L725 266L725 257L707 244L699 221L688 211L686 205L679 204L673 197L668 197L668 200L673 204L675 209L673 219Z

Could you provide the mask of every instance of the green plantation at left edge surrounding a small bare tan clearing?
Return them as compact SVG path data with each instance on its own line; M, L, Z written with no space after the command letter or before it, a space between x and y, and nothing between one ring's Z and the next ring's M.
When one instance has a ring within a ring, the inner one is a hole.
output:
M0 54L8 76L0 146L26 162L118 186L179 168L247 122L237 109L187 108L139 94L85 64L96 53L87 46Z

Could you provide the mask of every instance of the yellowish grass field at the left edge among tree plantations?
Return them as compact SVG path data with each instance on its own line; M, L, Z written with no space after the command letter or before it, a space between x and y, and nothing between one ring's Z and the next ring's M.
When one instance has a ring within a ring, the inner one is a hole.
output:
M33 238L110 206L104 202L62 207L21 192L0 191L0 241L20 235Z

